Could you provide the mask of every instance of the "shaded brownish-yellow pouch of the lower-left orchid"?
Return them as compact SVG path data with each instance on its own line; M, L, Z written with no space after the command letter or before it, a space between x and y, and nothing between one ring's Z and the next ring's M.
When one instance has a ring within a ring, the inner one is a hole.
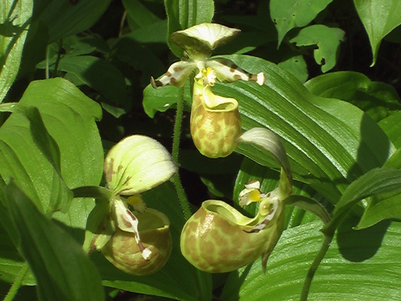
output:
M132 275L149 275L162 268L170 256L170 223L163 213L150 208L143 213L135 212L135 217L138 233L118 228L101 251L122 271Z

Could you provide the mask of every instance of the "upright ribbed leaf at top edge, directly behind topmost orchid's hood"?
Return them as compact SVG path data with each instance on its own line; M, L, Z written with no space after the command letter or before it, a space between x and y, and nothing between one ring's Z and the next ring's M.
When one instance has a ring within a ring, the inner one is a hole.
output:
M168 47L175 56L182 58L183 50L171 41L170 35L196 24L212 22L215 4L212 0L164 0L164 5L168 20Z

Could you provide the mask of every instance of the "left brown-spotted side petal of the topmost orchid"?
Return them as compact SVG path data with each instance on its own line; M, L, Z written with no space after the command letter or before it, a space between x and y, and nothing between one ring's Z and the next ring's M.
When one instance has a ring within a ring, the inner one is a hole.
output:
M192 70L196 67L195 62L179 61L172 64L167 72L159 79L150 78L150 83L153 88L173 85L182 87Z

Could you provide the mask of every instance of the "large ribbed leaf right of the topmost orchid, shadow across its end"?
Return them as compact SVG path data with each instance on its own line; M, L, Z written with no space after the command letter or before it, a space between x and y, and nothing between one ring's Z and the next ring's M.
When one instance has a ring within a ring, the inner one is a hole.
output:
M292 75L263 59L226 58L252 73L263 71L266 83L218 83L214 92L238 100L244 130L267 127L278 134L294 179L308 183L334 204L349 183L382 166L395 151L378 125L352 104L312 95ZM275 159L256 146L243 144L237 150L279 169Z

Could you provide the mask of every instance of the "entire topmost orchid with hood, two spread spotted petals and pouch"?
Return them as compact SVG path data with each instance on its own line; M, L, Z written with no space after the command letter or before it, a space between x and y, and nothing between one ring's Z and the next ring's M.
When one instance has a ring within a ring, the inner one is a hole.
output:
M195 72L190 129L199 152L210 158L226 157L237 147L241 134L238 102L234 98L215 95L216 80L230 83L237 80L255 81L263 85L263 72L252 74L225 58L210 59L212 51L232 39L238 29L219 24L195 25L171 35L171 40L184 49L189 61L173 63L160 79L151 78L153 88L173 85L182 87Z

